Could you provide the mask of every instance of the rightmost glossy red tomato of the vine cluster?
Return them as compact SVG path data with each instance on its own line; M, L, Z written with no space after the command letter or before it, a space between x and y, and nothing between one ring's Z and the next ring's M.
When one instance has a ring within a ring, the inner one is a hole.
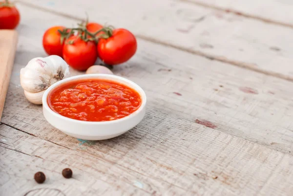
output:
M117 65L128 61L136 52L134 35L126 29L115 29L108 39L100 39L97 45L99 57L105 64Z

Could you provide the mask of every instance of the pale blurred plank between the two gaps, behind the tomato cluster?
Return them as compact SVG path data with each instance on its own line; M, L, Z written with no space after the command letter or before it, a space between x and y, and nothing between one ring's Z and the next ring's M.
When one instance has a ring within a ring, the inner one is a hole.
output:
M23 1L69 18L83 19L86 11L92 21L127 28L151 42L293 80L293 28L182 1Z

